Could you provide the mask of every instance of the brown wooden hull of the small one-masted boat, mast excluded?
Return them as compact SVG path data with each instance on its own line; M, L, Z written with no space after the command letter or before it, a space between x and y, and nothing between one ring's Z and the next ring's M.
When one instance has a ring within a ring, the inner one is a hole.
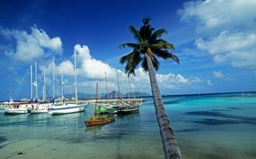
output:
M106 124L111 121L115 120L115 115L107 115L104 117L100 116L92 116L89 120L84 120L84 123L87 127L99 125L99 124Z

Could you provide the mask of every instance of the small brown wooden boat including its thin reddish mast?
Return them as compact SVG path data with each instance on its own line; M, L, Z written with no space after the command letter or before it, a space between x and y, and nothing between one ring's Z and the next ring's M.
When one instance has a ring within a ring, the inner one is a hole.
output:
M100 124L106 124L108 122L111 122L115 120L115 115L106 115L106 116L97 116L97 97L98 97L98 82L97 82L97 88L96 88L96 99L95 99L95 111L94 116L91 116L89 120L84 120L84 124L86 124L87 127L94 126L94 125L100 125Z

